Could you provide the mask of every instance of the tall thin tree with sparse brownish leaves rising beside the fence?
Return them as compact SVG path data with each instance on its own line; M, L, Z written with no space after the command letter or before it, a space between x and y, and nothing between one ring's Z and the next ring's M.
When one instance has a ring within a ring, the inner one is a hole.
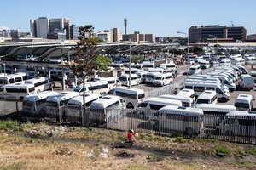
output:
M73 47L74 65L72 66L73 74L83 81L83 89L85 89L85 79L94 75L96 71L96 47L98 38L93 36L94 27L91 25L79 27L79 42ZM85 91L84 91L85 94ZM83 99L85 104L85 97Z

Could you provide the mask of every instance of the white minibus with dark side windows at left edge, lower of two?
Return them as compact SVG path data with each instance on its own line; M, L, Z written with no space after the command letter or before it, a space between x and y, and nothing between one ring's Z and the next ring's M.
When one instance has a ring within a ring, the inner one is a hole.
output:
M35 88L32 84L15 83L4 85L0 88L0 98L6 100L20 100L22 101L26 95L35 93Z

